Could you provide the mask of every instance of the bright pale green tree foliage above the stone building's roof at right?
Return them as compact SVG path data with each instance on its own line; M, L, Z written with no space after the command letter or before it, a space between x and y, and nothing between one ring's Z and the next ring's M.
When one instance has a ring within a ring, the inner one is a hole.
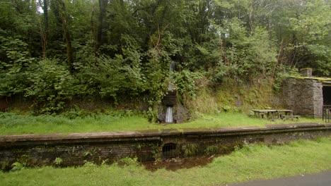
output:
M318 76L330 75L330 10L324 0L284 2L274 13L275 23L282 26L275 33L281 41L281 63L313 68Z

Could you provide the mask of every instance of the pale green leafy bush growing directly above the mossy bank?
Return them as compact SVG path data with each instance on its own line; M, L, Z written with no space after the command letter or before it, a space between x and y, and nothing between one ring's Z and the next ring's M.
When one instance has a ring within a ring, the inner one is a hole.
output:
M231 47L224 51L225 61L219 64L219 73L239 80L269 77L276 65L277 54L267 31L256 27L252 35L246 36L247 31L241 24L237 19L228 23L229 36L225 40Z

